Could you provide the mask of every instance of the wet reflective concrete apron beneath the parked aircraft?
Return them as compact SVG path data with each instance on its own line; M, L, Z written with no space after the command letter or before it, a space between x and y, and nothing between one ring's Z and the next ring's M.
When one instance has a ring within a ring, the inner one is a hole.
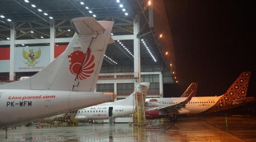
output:
M84 123L77 127L40 128L20 126L0 131L0 141L56 142L56 141L164 141L164 142L256 142L256 119L234 117L180 118L178 122L154 121L146 127L127 123Z

